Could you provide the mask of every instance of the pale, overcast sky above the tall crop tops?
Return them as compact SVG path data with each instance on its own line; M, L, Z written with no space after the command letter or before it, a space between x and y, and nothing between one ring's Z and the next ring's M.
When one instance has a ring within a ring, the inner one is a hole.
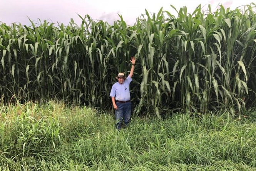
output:
M82 20L79 14L82 17L89 15L95 21L106 21L110 25L120 20L119 15L122 15L127 25L134 25L136 18L145 14L145 9L149 13L158 13L163 7L163 10L176 16L177 13L170 5L177 10L186 6L187 12L192 13L199 4L205 9L210 4L212 11L215 11L219 4L234 10L252 2L253 0L0 0L0 22L6 25L31 25L28 18L35 23L39 23L39 18L42 22L47 20L67 26L72 18L80 25Z

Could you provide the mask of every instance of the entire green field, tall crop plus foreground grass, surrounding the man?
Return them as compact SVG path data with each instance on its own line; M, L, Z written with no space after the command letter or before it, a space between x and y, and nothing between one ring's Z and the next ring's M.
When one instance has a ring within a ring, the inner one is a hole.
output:
M255 3L171 7L131 26L0 21L0 171L256 171Z

